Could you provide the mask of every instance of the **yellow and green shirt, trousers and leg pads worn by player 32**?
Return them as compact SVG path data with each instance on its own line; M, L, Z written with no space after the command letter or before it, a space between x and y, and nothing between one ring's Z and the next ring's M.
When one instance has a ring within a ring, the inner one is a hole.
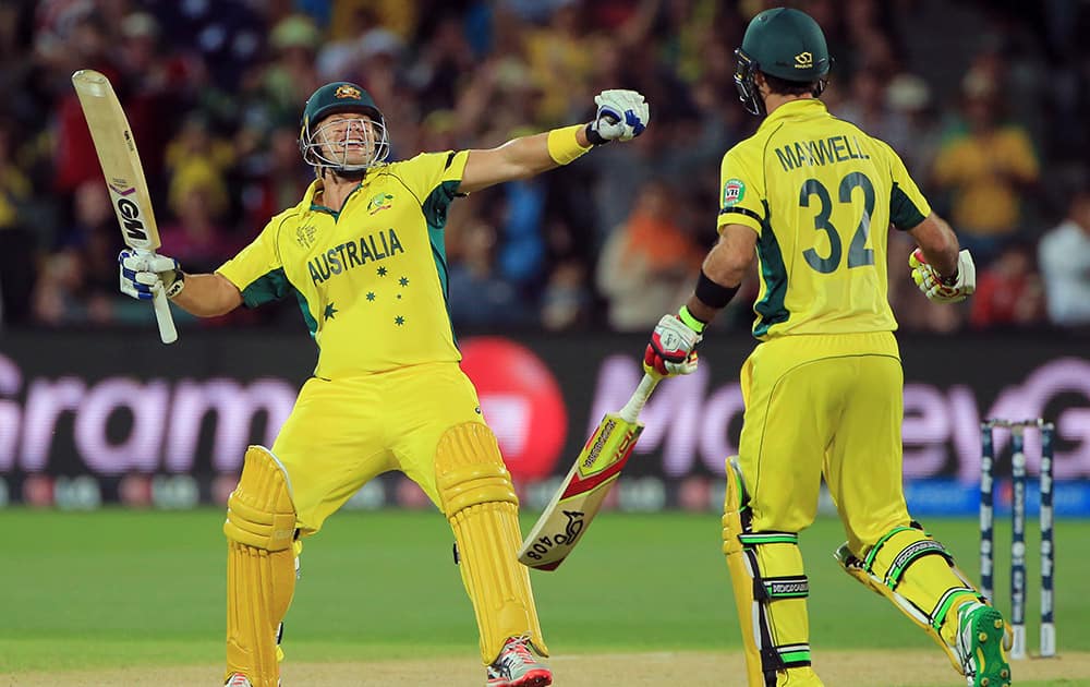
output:
M953 660L956 623L945 620L977 594L905 504L887 297L888 228L912 229L931 207L888 145L812 98L775 108L724 156L720 180L718 227L756 232L761 281L761 343L740 375L746 415L724 515L750 685L821 684L797 542L823 477L847 533L846 569Z

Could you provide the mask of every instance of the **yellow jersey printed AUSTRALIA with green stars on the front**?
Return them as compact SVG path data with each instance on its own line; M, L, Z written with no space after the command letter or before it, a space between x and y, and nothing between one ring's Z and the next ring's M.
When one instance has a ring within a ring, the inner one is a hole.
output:
M250 308L299 300L319 377L457 362L443 229L467 158L432 153L374 168L340 213L314 202L315 181L217 272Z

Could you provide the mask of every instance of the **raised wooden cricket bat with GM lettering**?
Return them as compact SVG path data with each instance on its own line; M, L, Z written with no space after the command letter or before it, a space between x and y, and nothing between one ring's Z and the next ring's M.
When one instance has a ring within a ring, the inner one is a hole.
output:
M113 212L121 225L125 244L138 254L150 255L159 248L159 229L152 213L152 197L144 179L144 167L136 152L136 141L129 128L129 118L110 81L99 72L82 69L72 74L72 85L80 96L80 107L87 118L95 152L102 166L106 186L110 190ZM178 340L178 330L170 316L167 294L159 289L153 294L159 338L164 343Z

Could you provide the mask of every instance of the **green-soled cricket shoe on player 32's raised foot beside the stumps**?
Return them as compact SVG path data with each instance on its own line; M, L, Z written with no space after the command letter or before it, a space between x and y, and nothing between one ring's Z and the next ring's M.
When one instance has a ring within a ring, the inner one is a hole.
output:
M957 610L957 653L970 687L1010 687L1010 664L1003 647L1006 626L992 606L976 601Z

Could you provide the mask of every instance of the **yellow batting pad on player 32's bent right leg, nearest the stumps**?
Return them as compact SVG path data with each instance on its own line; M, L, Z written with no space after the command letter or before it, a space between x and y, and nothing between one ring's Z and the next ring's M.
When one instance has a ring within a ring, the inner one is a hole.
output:
M834 554L851 577L893 602L943 648L958 673L957 607L967 601L986 603L954 564L954 557L916 522L896 527L870 547L863 558L843 544Z

